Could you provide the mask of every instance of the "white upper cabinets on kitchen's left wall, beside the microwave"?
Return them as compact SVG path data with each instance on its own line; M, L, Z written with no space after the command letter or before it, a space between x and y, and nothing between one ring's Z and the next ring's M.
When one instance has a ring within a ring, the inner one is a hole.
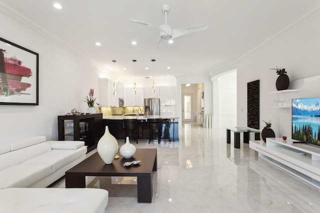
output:
M100 78L99 93L101 106L119 106L119 98L123 98L123 85L115 82L115 95L113 95L113 81Z

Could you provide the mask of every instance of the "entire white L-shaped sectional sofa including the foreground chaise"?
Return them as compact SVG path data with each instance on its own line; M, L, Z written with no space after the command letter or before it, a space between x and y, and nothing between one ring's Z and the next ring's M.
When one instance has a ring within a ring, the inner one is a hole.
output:
M104 213L101 189L45 188L85 158L82 141L35 136L0 144L0 212Z

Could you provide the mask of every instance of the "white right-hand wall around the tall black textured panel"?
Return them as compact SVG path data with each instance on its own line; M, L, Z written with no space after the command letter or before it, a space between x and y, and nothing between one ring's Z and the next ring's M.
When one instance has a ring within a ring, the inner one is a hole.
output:
M319 75L320 67L320 8L300 18L277 35L252 50L247 55L212 71L212 76L237 69L237 126L246 126L246 83L260 80L260 129L262 120L270 120L276 137L290 132L291 125L281 123L280 110L276 105L277 75L272 67L285 68L290 81ZM313 94L316 90L310 92ZM306 95L306 94L305 94ZM286 113L290 116L289 113ZM282 129L283 132L280 132Z

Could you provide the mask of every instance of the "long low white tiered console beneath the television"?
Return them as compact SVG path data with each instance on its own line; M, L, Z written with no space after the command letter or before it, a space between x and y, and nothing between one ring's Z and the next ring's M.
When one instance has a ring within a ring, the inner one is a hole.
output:
M260 158L320 189L320 147L267 138L266 143L250 140L249 148L257 151Z

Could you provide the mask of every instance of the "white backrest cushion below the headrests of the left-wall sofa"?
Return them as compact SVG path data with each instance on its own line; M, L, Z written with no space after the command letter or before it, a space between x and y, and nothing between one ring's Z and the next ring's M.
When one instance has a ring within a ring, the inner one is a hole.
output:
M0 155L0 170L21 164L31 158L50 151L51 146L48 143L43 142L23 149L4 153Z

